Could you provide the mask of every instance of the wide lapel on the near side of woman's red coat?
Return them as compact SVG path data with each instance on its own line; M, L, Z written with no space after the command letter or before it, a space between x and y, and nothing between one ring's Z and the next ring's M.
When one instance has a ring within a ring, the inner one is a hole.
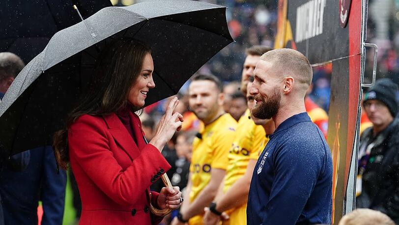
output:
M130 156L132 161L137 158L140 155L140 150L116 114L112 113L103 118L115 142Z

